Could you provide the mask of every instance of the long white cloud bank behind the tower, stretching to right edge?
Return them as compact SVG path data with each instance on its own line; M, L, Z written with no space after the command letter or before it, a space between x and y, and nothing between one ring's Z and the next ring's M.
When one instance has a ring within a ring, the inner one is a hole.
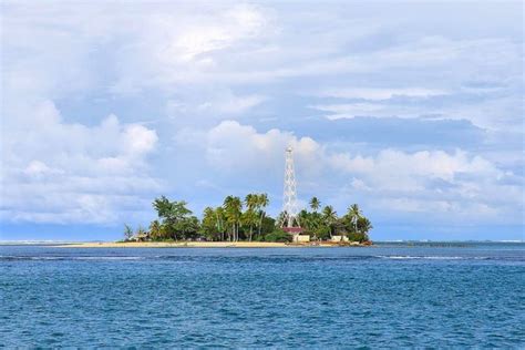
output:
M523 209L522 177L462 150L383 148L364 156L350 150L333 151L310 137L298 138L280 130L258 133L235 121L208 131L186 130L177 140L199 140L194 156L205 161L214 174L208 182L218 187L225 178L219 174L226 174L228 182L239 186L258 184L279 195L284 150L292 145L303 198L318 195L337 206L348 205L349 198L360 199L375 215L415 212L447 223L515 223Z

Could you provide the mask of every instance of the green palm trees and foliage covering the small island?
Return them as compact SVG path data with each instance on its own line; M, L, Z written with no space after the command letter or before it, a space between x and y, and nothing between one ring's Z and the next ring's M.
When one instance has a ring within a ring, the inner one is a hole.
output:
M348 212L339 218L332 206L320 208L320 200L312 197L310 208L302 209L298 222L305 234L313 239L328 240L333 235L347 235L350 240L366 241L372 224L366 218L357 204L351 205ZM248 194L240 200L236 196L227 196L222 206L206 207L202 220L193 215L184 200L171 202L165 196L155 198L153 207L158 218L150 224L148 230L138 227L136 234L125 225L125 240L178 240L206 237L207 240L266 240L291 241L291 235L276 226L284 225L284 214L277 219L266 215L268 206L267 194Z

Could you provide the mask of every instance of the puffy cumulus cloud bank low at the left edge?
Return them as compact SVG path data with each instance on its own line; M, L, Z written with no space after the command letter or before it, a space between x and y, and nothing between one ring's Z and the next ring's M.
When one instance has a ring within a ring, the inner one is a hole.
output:
M2 136L4 222L113 224L124 213L144 215L151 193L162 187L146 162L156 132L115 115L91 127L65 123L43 101L31 123L11 125Z

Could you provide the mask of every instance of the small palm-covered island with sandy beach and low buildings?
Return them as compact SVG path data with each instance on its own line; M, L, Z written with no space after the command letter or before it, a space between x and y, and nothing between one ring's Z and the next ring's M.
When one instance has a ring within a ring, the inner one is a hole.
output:
M276 218L266 213L268 195L248 194L244 200L227 196L208 206L199 219L185 200L161 196L153 202L156 218L147 228L124 225L124 238L115 243L83 243L68 247L333 247L370 246L371 222L357 204L338 216L331 205L321 208L317 197L297 215L297 227L285 227L286 212Z

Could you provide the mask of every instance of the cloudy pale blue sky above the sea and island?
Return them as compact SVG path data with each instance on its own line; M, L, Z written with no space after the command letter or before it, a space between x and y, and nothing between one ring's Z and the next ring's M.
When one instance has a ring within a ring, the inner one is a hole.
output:
M525 239L522 1L2 1L0 240L227 195L372 239Z

